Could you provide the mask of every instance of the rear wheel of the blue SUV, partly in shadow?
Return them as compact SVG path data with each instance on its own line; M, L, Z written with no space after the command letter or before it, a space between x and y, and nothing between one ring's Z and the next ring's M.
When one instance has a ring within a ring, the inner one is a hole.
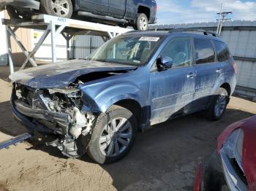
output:
M219 87L214 97L212 98L211 105L207 112L209 120L220 120L225 113L228 104L227 90Z

